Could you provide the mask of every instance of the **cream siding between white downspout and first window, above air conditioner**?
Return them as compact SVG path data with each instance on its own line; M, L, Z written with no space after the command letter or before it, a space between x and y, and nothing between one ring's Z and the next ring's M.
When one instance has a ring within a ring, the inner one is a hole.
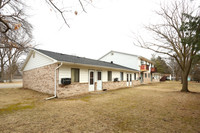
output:
M61 78L71 78L71 68L66 66L66 65L62 65L59 68L59 84L61 84Z

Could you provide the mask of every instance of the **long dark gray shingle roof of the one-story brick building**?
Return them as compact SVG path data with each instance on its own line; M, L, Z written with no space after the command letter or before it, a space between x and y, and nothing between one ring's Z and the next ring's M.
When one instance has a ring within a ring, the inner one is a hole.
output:
M85 65L92 65L92 66L110 67L110 68L117 68L117 69L126 69L129 71L130 70L138 71L135 69L131 69L131 68L121 66L118 64L114 64L114 63L110 63L110 62L88 59L88 58L84 58L84 57L78 57L78 56L67 55L67 54L62 54L62 53L56 53L56 52L51 52L51 51L46 51L46 50L41 50L41 49L35 49L35 50L55 59L57 61L85 64Z

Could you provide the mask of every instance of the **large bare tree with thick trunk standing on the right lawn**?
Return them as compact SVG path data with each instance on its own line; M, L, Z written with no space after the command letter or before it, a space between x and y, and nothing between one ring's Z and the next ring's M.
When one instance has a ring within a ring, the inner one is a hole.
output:
M188 17L184 14L199 17L197 11L190 4L191 2L182 0L173 1L169 5L161 5L161 10L156 12L162 18L161 23L145 27L153 33L155 42L146 42L141 37L137 37L134 42L136 46L168 55L176 60L181 69L183 82L181 91L183 92L189 91L187 77L191 69L193 57L199 51L193 45L183 41L188 37L186 32L181 30L184 22L188 21ZM199 10L199 8L196 10Z

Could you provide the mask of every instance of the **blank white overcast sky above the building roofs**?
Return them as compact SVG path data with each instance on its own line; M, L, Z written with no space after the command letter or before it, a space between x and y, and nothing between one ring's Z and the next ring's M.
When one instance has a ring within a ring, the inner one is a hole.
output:
M134 46L131 35L150 36L142 28L157 21L153 11L159 9L160 0L93 1L95 7L85 7L87 13L69 15L71 28L45 2L31 1L29 21L34 27L33 44L39 44L36 48L93 59L115 50L150 59L153 52Z

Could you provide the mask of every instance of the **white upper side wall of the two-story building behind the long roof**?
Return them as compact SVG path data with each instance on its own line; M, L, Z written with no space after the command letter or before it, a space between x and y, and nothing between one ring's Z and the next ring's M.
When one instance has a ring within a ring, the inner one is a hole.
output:
M140 70L140 67L139 67L140 59L137 56L126 55L126 54L115 53L115 52L112 52L112 53L109 53L108 55L104 56L100 60L107 61L107 62L113 61L113 63L126 66L129 68L133 68L136 70Z

